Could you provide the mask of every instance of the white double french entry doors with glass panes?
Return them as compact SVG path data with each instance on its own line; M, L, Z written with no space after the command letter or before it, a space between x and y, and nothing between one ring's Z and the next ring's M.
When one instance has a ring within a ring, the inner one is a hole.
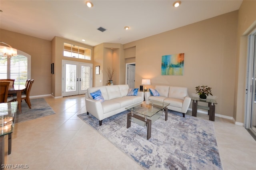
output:
M92 87L92 64L62 60L62 96L85 94Z

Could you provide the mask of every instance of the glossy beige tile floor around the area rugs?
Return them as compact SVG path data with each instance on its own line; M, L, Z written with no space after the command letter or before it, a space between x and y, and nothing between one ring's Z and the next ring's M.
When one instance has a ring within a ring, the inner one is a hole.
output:
M77 117L86 112L84 95L45 99L56 114L16 124L6 164L31 170L143 169ZM198 119L208 115L198 113ZM247 130L219 117L214 128L224 170L255 170L256 141Z

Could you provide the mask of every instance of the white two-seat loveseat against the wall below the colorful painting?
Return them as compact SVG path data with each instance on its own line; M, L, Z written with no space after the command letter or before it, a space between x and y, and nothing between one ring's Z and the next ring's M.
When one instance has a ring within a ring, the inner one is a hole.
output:
M152 99L170 103L167 107L168 109L181 112L183 117L185 117L191 101L191 98L188 96L188 88L156 85L155 89L158 91L159 96L152 96L150 91L146 91L144 92L145 100Z

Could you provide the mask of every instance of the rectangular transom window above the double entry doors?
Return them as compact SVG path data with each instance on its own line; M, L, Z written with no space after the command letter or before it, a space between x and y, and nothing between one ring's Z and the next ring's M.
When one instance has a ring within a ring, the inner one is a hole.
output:
M70 43L64 43L63 55L65 57L91 60L91 49L80 47L78 45L72 45Z

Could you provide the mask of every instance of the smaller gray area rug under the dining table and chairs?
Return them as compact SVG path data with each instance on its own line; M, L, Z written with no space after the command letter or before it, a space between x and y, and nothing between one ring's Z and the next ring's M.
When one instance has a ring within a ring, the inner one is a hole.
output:
M30 99L31 109L29 109L27 103L22 100L21 109L22 114L17 111L15 117L15 123L20 123L24 121L30 121L32 119L37 119L40 117L45 117L48 115L55 114L52 108L44 100L44 98Z

